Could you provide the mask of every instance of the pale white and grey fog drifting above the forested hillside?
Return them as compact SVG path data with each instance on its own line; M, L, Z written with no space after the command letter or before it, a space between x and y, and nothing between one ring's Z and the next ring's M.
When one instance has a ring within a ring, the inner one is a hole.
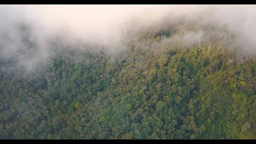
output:
M225 28L237 36L234 44L256 53L256 5L1 5L0 60L15 58L18 66L33 70L51 54L55 39L73 48L99 45L115 53L143 29L180 23ZM208 35L184 31L176 40L192 44Z

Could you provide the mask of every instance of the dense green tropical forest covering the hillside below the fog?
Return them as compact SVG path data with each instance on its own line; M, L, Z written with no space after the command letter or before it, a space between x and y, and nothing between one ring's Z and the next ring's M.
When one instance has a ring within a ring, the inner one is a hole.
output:
M181 31L115 54L59 46L29 74L0 58L0 139L255 139L256 56Z

